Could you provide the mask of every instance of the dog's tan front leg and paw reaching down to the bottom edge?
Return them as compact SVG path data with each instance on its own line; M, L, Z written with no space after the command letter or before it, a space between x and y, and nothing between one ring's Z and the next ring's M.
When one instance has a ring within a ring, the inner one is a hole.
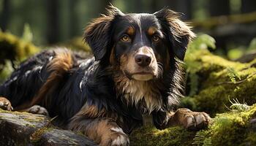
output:
M113 118L88 118L76 115L69 123L69 129L85 134L99 145L129 145L129 137Z

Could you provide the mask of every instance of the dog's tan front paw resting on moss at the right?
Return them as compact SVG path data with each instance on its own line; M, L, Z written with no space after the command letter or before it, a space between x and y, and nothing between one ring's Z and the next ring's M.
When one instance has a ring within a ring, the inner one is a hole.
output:
M206 128L211 118L206 112L192 112L191 110L182 108L175 112L179 123L189 130L200 130Z

